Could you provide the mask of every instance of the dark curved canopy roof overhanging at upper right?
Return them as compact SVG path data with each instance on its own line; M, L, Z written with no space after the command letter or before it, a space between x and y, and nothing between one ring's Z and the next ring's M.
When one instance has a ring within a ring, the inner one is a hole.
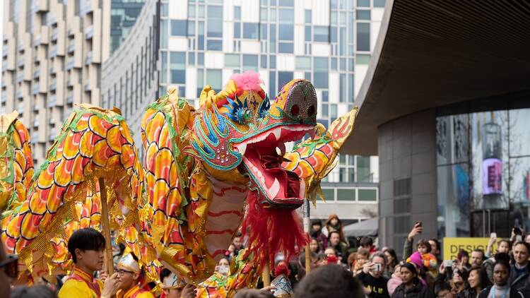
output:
M530 89L526 1L387 0L345 153L377 155L377 127L454 102Z

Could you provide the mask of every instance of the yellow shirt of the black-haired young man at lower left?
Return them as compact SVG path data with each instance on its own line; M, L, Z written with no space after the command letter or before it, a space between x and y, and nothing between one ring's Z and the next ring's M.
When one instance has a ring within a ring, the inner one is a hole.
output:
M59 290L59 298L99 298L103 283L85 271L74 268L68 280Z

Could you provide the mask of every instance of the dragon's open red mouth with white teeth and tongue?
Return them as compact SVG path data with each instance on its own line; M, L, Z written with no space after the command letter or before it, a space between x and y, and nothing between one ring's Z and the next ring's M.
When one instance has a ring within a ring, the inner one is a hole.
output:
M304 181L283 169L281 162L285 142L298 141L313 129L311 125L282 126L235 145L243 155L242 170L249 174L251 189L258 189L264 198L261 202L278 208L298 208L303 203Z

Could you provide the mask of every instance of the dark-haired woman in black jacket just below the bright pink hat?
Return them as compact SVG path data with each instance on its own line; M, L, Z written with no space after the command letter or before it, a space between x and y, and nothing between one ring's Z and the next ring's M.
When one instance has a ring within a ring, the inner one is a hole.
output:
M418 270L412 263L404 263L400 268L403 283L396 287L392 298L430 298L432 293L418 278Z

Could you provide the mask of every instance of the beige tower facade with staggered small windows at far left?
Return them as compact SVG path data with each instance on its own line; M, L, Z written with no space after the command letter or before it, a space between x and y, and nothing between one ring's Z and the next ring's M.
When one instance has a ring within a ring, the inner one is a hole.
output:
M110 0L3 1L0 113L16 109L45 160L76 103L100 105L110 50Z

